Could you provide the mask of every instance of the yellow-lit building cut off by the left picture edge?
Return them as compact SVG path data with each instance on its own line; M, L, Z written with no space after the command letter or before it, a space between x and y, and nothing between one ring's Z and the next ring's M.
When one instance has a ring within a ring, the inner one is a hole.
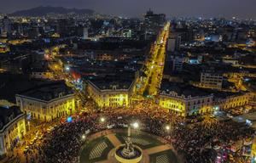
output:
M6 155L26 134L26 115L18 106L0 106L0 155Z

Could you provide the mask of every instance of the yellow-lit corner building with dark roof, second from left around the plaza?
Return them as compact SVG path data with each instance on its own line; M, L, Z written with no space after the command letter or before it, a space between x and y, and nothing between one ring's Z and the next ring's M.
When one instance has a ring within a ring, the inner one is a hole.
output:
M52 121L75 111L73 90L64 82L50 82L16 94L16 104L28 117Z

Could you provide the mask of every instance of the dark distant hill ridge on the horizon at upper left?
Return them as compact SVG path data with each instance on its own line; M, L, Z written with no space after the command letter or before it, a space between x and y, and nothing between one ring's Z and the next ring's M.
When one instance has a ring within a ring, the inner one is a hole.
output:
M62 8L62 7L37 7L26 10L16 11L15 13L9 14L10 16L44 16L46 14L93 14L92 9L78 9L78 8Z

